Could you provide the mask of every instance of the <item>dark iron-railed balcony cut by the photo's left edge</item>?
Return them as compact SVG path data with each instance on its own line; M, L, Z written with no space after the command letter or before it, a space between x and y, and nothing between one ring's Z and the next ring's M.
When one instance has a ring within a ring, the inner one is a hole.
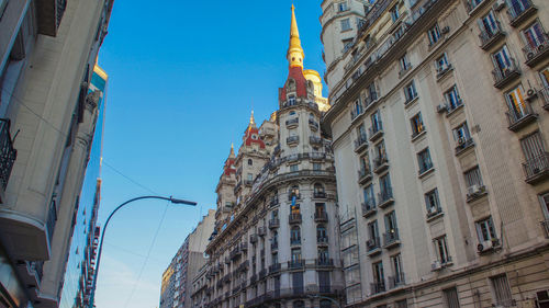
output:
M10 134L10 121L0 118L0 204L4 202L4 192L10 180L11 169L18 157Z

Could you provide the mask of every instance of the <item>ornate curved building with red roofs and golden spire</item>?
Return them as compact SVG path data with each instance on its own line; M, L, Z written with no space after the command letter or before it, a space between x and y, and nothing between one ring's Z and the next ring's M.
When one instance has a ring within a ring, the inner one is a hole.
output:
M193 307L329 307L343 289L336 186L329 140L320 129L321 77L303 70L292 5L289 76L279 110L225 162L206 269Z

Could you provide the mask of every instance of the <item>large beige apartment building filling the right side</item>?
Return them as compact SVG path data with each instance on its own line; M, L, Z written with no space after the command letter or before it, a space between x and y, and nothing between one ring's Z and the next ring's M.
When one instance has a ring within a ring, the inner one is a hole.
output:
M548 307L549 2L322 3L348 307Z

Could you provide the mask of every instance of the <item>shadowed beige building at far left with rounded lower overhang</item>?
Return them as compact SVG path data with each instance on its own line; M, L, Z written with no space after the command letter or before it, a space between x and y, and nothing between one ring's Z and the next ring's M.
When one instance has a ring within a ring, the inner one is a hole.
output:
M112 1L0 1L0 306L58 307ZM83 253L83 252L82 252Z

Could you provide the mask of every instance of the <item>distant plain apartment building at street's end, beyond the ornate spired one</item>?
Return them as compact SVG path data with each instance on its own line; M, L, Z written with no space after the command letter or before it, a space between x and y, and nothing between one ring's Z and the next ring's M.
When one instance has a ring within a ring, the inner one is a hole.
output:
M187 237L170 265L163 274L160 308L191 307L193 277L206 264L204 251L213 231L215 210L210 209L197 228Z

